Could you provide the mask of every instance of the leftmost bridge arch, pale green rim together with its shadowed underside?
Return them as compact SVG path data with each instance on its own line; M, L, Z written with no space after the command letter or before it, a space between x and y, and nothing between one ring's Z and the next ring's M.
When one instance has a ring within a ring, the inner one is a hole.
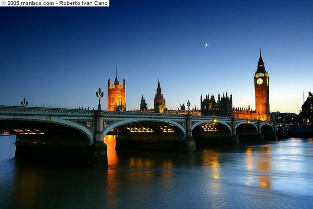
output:
M21 115L16 117L0 117L0 126L5 129L20 130L38 130L38 134L25 134L23 132L17 134L19 139L23 141L38 140L41 143L54 144L70 144L70 145L92 145L93 144L93 120L90 121L90 127L83 124L81 120L74 121L69 118L61 118L59 116L27 116ZM36 132L36 131L32 131Z

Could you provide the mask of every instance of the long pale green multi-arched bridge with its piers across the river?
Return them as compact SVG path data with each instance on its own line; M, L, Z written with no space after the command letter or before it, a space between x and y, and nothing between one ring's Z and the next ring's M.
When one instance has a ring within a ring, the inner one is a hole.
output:
M0 106L0 129L16 135L15 158L48 158L107 165L105 135L117 135L116 149L196 151L196 144L235 146L263 142L290 126L231 117L83 109Z

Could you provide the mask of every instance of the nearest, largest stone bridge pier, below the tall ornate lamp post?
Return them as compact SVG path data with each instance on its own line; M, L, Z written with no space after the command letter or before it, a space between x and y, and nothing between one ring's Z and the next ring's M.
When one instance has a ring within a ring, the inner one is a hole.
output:
M91 163L94 167L107 167L107 147L103 142L103 111L95 110L94 144L91 146Z

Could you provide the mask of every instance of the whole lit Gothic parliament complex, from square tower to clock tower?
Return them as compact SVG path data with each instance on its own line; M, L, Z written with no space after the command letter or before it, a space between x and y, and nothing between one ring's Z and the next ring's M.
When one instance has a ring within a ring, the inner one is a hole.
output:
M148 109L148 105L143 95L141 96L140 108L137 110L128 110L132 112L154 112L154 113L167 113L167 114L187 114L188 111L191 115L213 115L213 116L227 116L235 118L246 118L261 121L270 121L269 112L269 75L265 70L264 62L262 59L261 51L258 61L257 70L254 73L254 90L255 90L255 110L250 108L233 107L232 94L220 95L216 100L214 95L200 96L200 110L196 107L186 110L186 105L181 104L178 110L168 110L166 107L166 100L163 97L160 85L160 79L156 88L154 97L154 108ZM108 106L109 111L126 111L125 102L125 78L123 78L122 85L119 84L117 79L117 70L114 83L111 85L110 78L108 80Z

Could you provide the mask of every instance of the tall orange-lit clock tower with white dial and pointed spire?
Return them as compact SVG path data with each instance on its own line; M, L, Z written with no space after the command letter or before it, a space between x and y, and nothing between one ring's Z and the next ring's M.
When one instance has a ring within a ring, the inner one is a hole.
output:
M265 70L261 56L258 69L254 73L255 111L261 121L270 121L269 113L269 74Z

